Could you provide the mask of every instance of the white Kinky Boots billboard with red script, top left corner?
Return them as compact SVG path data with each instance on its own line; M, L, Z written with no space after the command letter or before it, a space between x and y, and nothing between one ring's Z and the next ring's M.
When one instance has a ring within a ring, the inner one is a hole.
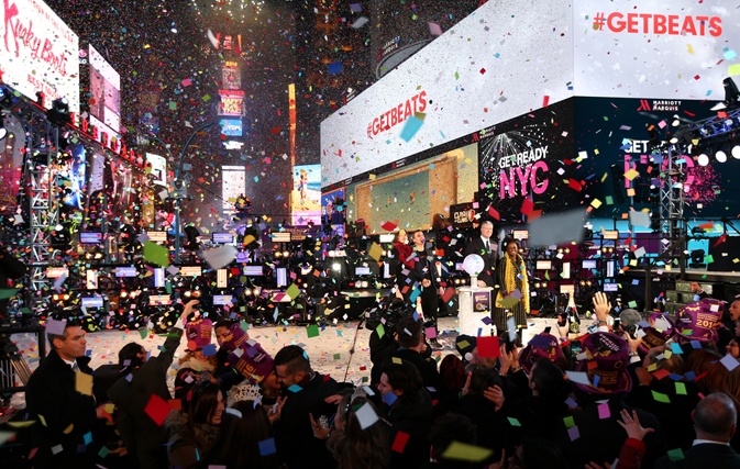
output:
M0 10L2 81L45 105L66 97L79 113L79 38L42 0L4 0Z

